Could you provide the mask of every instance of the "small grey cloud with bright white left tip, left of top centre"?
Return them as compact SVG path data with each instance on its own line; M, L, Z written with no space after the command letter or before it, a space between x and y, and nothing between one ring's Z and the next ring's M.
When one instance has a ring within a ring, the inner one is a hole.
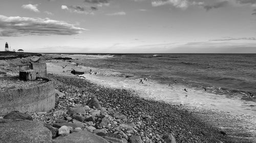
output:
M80 13L80 14L94 14L92 11L98 10L97 7L88 7L88 6L65 6L62 5L61 9L68 10L69 12Z

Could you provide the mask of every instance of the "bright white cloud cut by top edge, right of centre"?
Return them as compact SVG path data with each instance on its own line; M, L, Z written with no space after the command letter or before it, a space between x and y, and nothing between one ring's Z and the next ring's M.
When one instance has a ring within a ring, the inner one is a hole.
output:
M154 0L152 3L153 7L162 5L173 5L176 8L186 9L189 5L187 0Z

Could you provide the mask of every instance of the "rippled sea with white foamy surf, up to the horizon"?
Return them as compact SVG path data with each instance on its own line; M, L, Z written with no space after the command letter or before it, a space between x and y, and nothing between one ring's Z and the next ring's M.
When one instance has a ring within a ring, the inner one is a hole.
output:
M256 130L256 54L44 53L70 57L87 79L143 98L240 116ZM73 63L74 64L74 63ZM92 74L89 71L92 70Z

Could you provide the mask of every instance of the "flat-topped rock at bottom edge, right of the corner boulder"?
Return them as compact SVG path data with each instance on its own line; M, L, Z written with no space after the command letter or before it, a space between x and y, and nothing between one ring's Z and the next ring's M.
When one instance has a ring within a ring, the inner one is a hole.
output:
M104 138L86 130L73 132L67 136L59 136L52 140L53 143L109 143Z

